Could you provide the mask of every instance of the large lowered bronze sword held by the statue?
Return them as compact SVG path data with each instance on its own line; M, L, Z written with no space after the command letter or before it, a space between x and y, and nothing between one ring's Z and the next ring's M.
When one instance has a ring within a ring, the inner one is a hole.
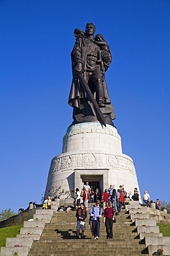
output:
M100 123L102 123L103 125L105 125L105 127L106 127L106 121L103 116L103 113L100 111L100 107L98 107L98 104L94 98L94 95L93 95L92 91L89 89L89 86L88 86L87 82L85 81L85 78L83 77L83 75L81 73L78 74L77 77L79 78L79 80L81 82L81 86L83 87L85 93L87 93L87 97L88 97L89 101L94 104L94 110L96 111L96 116L98 118L98 121Z

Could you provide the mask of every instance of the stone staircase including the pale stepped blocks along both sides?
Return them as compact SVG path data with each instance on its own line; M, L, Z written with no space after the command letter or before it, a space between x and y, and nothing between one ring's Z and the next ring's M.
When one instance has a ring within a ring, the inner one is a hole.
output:
M91 204L93 205L93 204ZM89 208L91 206L89 204ZM89 213L85 221L85 238L76 237L75 211L56 212L37 210L33 221L24 221L21 235L6 240L1 248L1 256L56 256L56 255L142 255L151 256L158 248L170 255L170 237L162 237L156 220L146 207L138 202L125 205L122 213L116 215L114 239L106 239L105 225L101 222L100 238L92 239L89 227ZM147 215L149 214L149 215ZM102 219L103 221L103 219ZM14 245L19 244L19 247Z

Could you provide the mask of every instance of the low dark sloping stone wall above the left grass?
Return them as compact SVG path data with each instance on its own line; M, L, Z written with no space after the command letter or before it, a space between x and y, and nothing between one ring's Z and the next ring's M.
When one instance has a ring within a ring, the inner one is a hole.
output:
M5 221L0 221L0 228L6 228L10 226L22 225L23 221L28 221L28 219L33 218L36 209L28 210L27 212L22 212L20 214L14 215Z

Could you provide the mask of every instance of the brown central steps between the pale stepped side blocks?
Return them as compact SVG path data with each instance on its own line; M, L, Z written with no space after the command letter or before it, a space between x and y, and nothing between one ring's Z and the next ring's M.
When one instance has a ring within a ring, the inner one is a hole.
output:
M145 244L136 238L129 214L122 210L114 223L114 239L106 239L105 225L101 222L100 239L92 239L89 228L89 216L85 224L85 239L76 237L76 212L54 212L52 221L45 224L39 241L34 241L29 256L54 255L141 255L145 253ZM88 214L87 214L88 215ZM145 254L148 255L147 253Z

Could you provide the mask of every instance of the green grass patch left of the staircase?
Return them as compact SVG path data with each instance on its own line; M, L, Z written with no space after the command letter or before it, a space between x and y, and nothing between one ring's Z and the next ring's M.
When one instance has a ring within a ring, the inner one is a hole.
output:
M6 245L6 237L17 237L21 227L23 225L0 228L0 247Z

